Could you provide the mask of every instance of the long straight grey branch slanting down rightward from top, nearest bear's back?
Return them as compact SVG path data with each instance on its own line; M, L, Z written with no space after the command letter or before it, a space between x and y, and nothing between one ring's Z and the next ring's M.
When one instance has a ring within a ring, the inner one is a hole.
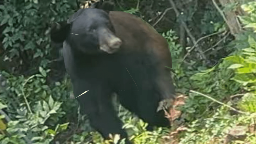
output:
M172 5L172 7L173 7L173 9L174 9L174 12L176 13L176 16L179 17L179 11L178 11L178 9L177 9L177 7L176 7L174 1L173 1L173 0L169 0L169 2L171 3L171 5ZM193 37L193 35L191 34L190 30L188 29L187 24L186 24L184 21L182 21L182 20L181 20L181 24L182 24L182 26L184 27L184 29L186 30L188 36L191 38L193 44L194 44L195 46L197 46L197 45L196 45L196 39L195 39L195 37ZM197 48L198 48L199 54L202 56L202 58L203 58L204 60L206 60L206 57L205 57L205 55L204 55L202 49L201 49L199 46L197 46Z

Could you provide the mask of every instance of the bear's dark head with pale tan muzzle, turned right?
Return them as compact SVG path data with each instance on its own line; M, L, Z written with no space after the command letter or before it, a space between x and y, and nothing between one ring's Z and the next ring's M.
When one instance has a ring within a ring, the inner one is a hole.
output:
M72 48L86 54L118 51L122 41L115 36L109 19L109 11L87 8L80 9L68 19L71 24L66 41Z

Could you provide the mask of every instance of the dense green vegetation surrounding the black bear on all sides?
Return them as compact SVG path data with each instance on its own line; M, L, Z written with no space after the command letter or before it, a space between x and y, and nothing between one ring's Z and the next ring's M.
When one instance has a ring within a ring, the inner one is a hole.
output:
M146 131L115 101L135 144L256 143L256 2L230 1L115 0L117 11L140 16L168 40L179 92L166 111L171 130ZM108 143L69 99L69 77L51 48L51 23L76 10L75 0L0 5L1 144Z

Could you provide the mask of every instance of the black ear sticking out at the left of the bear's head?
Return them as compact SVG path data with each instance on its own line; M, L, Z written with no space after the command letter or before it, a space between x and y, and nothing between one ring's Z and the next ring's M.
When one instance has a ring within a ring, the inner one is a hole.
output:
M67 21L53 22L51 24L51 40L56 43L62 43L70 29Z

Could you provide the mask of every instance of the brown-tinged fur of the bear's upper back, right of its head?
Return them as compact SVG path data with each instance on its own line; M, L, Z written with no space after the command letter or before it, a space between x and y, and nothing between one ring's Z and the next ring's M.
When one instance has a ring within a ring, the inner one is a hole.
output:
M171 52L167 40L143 19L127 12L109 12L115 35L123 42L125 53L149 52L161 65L172 67Z

